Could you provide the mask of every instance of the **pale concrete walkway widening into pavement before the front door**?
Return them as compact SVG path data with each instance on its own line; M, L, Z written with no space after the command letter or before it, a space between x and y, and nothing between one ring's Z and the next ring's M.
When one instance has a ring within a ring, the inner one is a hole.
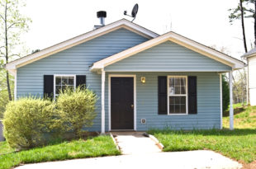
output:
M63 162L44 162L27 164L18 169L82 169L82 168L241 168L238 162L208 150L163 153L150 138L142 133L112 133L126 155L114 157L95 157ZM127 155L129 154L129 155Z

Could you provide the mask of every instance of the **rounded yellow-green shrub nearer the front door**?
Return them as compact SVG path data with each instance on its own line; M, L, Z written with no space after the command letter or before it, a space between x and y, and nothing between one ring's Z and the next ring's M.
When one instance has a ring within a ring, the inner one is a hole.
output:
M63 129L72 130L80 137L83 127L92 126L92 120L96 117L96 95L89 89L82 87L73 91L70 88L60 92L57 100L59 117L63 120Z

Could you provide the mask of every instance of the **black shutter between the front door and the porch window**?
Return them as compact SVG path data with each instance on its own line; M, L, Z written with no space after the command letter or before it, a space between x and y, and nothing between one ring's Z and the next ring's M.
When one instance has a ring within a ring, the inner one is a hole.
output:
M159 77L159 115L167 115L167 77Z

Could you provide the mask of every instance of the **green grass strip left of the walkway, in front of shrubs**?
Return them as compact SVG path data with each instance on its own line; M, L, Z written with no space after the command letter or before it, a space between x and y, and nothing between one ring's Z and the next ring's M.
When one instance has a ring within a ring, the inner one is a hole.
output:
M2 150L2 148L5 150ZM97 136L87 140L73 140L18 153L8 153L12 151L12 148L8 148L7 143L0 144L0 149L2 153L7 153L0 155L0 169L16 167L20 163L51 162L120 154L110 136Z

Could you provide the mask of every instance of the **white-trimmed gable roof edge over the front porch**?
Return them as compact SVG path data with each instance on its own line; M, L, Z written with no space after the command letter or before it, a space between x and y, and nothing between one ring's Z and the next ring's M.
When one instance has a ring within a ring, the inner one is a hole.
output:
M167 40L173 41L174 43L177 43L178 45L182 45L188 49L192 49L193 51L203 54L211 59L215 59L220 63L224 63L225 65L230 66L232 69L244 68L244 63L239 59L232 58L227 54L223 54L217 51L216 49L211 49L206 45L201 45L200 43L194 40L190 40L184 37L183 35L178 35L177 33L170 31L152 40L145 41L140 45L136 45L130 49L126 49L118 54L111 55L106 59L97 61L96 63L92 64L92 67L90 69L92 71L97 71L98 69L105 68L112 63L116 63L121 59L126 59L131 55L138 54L141 51L144 51L145 49L149 49L155 45L159 45Z

